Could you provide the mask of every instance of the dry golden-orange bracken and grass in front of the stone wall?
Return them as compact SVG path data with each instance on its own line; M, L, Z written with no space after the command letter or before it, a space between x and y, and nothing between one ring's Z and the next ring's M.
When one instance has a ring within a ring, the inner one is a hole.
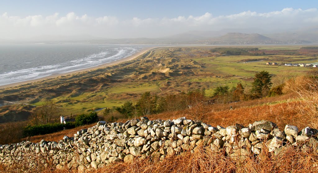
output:
M30 157L31 159L38 159ZM39 159L38 159L39 160ZM36 160L34 160L36 161ZM10 168L0 164L0 172L20 173L28 167L27 159L12 164ZM37 163L37 162L35 162ZM51 163L37 163L37 167L28 172L76 173L64 167L55 169ZM210 147L198 146L193 153L168 155L164 159L149 157L135 158L128 163L113 163L99 169L86 169L87 173L314 173L318 171L318 155L312 150L286 148L275 155L262 150L259 155L238 155L228 157L225 151L214 151Z

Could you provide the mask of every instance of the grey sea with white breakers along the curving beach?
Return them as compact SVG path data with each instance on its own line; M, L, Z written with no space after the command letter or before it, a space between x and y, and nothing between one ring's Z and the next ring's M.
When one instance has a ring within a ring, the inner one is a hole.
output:
M0 44L0 86L96 67L152 46Z

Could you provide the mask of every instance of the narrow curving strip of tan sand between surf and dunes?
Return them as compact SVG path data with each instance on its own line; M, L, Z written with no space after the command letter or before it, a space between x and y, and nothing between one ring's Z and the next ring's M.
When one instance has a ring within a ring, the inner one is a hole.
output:
M41 80L56 78L56 77L59 77L59 76L65 76L65 75L69 75L69 74L75 74L75 73L95 70L95 69L102 68L102 67L116 65L116 64L119 64L121 62L133 60L136 57L146 53L147 51L149 51L149 50L151 50L153 48L158 48L158 47L154 46L154 47L142 48L140 51L138 51L138 52L136 52L136 53L134 53L134 54L132 54L130 56L127 56L126 58L123 58L123 59L120 59L120 60L117 60L117 61L113 61L113 62L108 62L108 63L105 63L105 64L100 64L100 65L95 66L95 67L88 67L88 68L84 68L84 69L80 69L80 70L75 70L75 71L72 71L72 72L61 73L61 74L53 74L53 75L42 77L42 78L38 78L38 79L32 79L32 80L26 80L26 81L16 82L16 83L12 83L12 84L2 85L2 86L0 86L0 89L14 87L14 86L19 86L19 85L24 85L24 84L28 84L28 83L32 83L32 82L41 81Z

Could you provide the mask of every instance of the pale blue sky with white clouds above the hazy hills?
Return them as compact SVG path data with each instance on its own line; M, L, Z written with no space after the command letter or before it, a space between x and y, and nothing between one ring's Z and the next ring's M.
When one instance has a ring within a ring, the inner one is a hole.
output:
M274 32L318 25L316 0L1 0L0 39L162 37L192 30Z

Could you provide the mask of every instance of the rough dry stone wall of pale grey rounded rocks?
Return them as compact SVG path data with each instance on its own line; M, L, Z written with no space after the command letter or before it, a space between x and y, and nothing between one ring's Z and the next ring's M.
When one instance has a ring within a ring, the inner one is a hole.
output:
M42 156L42 163L53 163L57 168L99 168L107 163L129 161L134 157L159 157L193 151L204 145L225 150L228 156L258 155L262 149L275 154L284 148L318 149L318 130L296 126L277 128L270 121L256 121L244 127L213 127L185 117L175 120L149 120L147 117L126 123L107 123L82 129L74 137L65 136L58 142L23 141L0 145L0 163L10 166L26 156ZM30 162L30 167L34 166Z

